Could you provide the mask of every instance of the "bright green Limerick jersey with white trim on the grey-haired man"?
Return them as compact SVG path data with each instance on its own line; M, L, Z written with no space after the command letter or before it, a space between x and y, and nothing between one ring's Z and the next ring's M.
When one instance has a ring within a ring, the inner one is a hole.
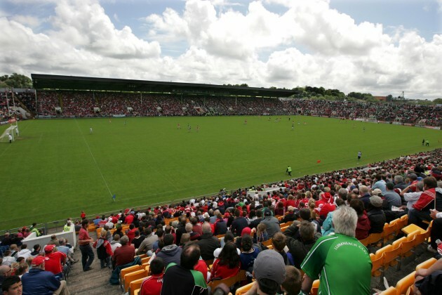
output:
M318 294L370 294L370 254L355 237L321 237L301 268L312 280L319 278Z

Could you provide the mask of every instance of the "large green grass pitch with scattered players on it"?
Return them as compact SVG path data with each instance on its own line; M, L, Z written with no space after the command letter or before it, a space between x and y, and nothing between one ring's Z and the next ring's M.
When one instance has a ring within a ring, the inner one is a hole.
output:
M20 122L20 138L0 144L0 229L281 181L287 165L302 176L442 146L441 131L293 118L294 131L274 116Z

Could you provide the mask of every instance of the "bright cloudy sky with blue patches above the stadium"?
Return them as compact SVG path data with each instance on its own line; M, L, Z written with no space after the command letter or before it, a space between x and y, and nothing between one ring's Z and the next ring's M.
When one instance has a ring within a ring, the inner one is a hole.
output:
M0 74L442 98L442 0L2 0Z

